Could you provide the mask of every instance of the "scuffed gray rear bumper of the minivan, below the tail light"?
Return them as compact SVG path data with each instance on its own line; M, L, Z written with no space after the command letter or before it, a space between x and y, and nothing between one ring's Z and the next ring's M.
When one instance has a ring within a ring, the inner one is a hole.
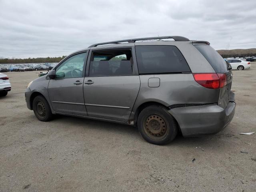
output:
M184 137L214 134L223 130L235 114L234 93L230 92L228 106L223 109L217 104L180 107L168 112L177 120Z

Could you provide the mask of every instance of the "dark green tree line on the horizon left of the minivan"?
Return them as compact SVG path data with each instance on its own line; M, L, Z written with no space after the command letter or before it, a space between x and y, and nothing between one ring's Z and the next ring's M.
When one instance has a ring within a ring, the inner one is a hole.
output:
M18 63L58 63L64 57L39 57L39 58L0 58L0 64L18 64Z

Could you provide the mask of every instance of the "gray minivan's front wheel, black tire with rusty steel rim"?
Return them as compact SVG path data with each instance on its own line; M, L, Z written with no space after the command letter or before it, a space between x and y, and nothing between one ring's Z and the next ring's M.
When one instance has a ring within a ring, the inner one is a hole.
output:
M47 100L41 95L34 98L33 111L40 121L50 121L53 118L53 114Z

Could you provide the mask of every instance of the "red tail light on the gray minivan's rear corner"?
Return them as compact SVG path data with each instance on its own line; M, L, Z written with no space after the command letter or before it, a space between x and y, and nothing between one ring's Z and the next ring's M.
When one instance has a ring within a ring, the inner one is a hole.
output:
M222 88L227 84L227 76L222 73L196 73L193 76L198 84L209 89Z

